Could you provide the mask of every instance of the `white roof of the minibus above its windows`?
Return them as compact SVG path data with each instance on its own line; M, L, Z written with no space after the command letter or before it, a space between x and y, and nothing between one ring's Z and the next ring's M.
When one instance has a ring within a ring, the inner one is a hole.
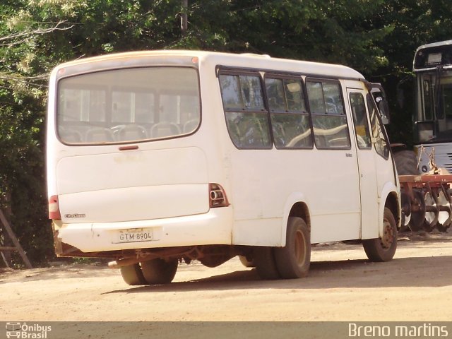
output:
M361 73L350 67L338 64L323 64L313 61L299 61L293 59L272 58L260 54L232 54L222 52L207 52L196 50L155 50L139 52L123 52L105 54L98 57L77 59L61 64L57 69L76 66L97 61L112 61L114 59L129 59L142 57L198 57L200 63L203 61L221 66L242 67L259 70L274 70L293 73L302 73L311 76L331 76L334 78L352 78L364 80Z

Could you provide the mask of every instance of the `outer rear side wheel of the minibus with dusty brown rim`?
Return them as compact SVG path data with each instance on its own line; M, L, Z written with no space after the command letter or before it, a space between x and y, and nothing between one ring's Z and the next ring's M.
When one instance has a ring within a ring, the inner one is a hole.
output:
M276 267L284 279L304 278L311 265L311 236L302 218L287 220L285 247L275 249Z

